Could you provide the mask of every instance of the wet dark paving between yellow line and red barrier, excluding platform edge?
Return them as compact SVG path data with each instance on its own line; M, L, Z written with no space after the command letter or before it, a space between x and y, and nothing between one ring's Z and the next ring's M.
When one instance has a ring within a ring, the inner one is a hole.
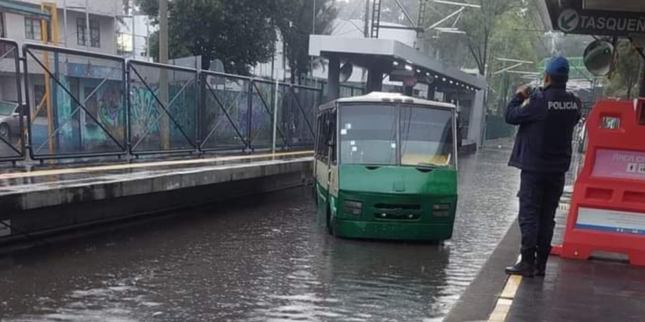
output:
M645 321L645 269L552 257L544 278L521 279L508 322Z

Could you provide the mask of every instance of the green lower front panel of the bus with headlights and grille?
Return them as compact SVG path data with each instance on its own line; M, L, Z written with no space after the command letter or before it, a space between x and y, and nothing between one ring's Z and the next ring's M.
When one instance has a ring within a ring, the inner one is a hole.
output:
M330 198L333 232L344 238L445 240L452 236L457 172L413 166L341 165L338 198ZM360 214L344 212L344 201L362 203ZM435 215L433 205L449 207ZM412 216L409 219L408 216Z

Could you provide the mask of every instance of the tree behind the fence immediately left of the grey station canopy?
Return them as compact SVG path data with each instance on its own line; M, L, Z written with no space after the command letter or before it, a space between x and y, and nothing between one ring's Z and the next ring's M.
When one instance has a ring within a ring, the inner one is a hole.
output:
M336 19L335 0L317 0L316 2L316 34L329 34L333 20ZM283 40L285 52L291 69L291 82L296 77L307 73L310 69L309 34L312 33L314 22L314 1L312 0L281 0L274 20L277 23ZM299 78L298 78L299 79Z

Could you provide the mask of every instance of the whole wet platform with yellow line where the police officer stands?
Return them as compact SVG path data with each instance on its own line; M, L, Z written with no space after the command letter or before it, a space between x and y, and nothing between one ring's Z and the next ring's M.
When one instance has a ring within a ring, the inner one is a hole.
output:
M556 216L554 244L563 239L567 210L563 203ZM645 321L645 268L615 256L551 256L546 277L509 278L502 269L517 260L519 237L513 225L445 322Z

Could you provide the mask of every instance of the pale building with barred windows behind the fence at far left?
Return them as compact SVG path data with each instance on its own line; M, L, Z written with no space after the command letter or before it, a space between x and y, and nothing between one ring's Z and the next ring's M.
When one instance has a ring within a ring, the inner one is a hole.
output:
M22 46L45 44L116 55L122 12L120 0L0 1L0 37L18 43L17 48L0 49L0 102L5 106L3 112L10 113L10 106L18 108L21 92L23 103L29 103L23 112L31 116L34 146L50 153L64 152L62 145L50 142L69 142L72 136L77 141L73 149L92 144L90 139L97 132L93 120L123 105L122 100L113 99L123 95L115 92L123 68L119 62L87 55L37 49L25 54ZM22 91L16 88L16 51L27 59L28 68L21 71L21 77L27 77L27 82L21 79ZM10 133L19 136L14 129Z

